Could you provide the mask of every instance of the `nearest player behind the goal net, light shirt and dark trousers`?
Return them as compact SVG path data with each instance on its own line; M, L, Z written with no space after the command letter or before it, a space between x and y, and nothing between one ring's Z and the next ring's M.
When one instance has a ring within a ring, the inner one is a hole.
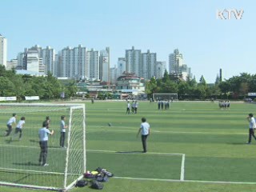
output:
M49 130L49 124L47 122L42 122L42 128L38 132L39 136L39 146L40 146L40 156L39 163L41 166L49 166L46 163L47 154L48 154L48 135L53 135L54 130Z

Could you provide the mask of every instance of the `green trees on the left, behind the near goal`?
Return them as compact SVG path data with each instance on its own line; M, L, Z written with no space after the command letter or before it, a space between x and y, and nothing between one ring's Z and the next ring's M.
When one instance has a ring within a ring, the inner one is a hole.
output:
M18 100L22 100L24 96L37 95L42 99L52 99L61 98L62 93L65 98L70 98L76 92L76 82L64 85L50 73L46 77L22 75L0 65L0 96L17 96Z

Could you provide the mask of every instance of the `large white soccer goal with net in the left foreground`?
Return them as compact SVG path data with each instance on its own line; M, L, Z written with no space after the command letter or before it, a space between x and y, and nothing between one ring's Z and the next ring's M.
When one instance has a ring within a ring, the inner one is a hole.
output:
M25 117L22 138L4 136L6 122L12 114L16 123ZM66 116L65 148L60 147L61 116ZM47 163L39 163L38 130L50 116ZM0 104L0 185L22 186L45 190L69 190L86 171L86 115L82 104Z

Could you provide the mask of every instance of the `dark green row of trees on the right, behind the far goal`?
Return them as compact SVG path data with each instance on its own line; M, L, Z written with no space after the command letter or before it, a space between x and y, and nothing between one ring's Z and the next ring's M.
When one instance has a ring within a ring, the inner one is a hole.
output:
M150 96L156 93L178 93L179 99L242 99L249 92L256 92L256 74L242 73L225 81L217 77L215 83L210 85L203 76L199 82L194 78L183 81L181 77L165 71L162 79L151 78L146 83L146 94Z

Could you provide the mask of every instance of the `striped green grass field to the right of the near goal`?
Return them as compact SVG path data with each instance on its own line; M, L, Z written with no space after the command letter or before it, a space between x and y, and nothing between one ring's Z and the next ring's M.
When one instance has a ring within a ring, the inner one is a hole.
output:
M246 116L254 111L254 105L245 103L231 103L230 110L219 110L218 103L174 102L170 110L158 110L156 103L139 102L138 114L128 115L126 102L86 102L88 170L102 166L118 177L178 180L180 156L150 153L186 154L185 182L111 178L104 190L256 191L254 184L203 183L255 182L256 142L246 145ZM138 153L142 151L142 144L136 134L142 117L146 117L151 126L148 154ZM6 119L1 118L2 121L5 124ZM24 131L22 140L26 140L26 135ZM1 143L6 145L4 139L1 138ZM0 186L0 191L29 190Z

